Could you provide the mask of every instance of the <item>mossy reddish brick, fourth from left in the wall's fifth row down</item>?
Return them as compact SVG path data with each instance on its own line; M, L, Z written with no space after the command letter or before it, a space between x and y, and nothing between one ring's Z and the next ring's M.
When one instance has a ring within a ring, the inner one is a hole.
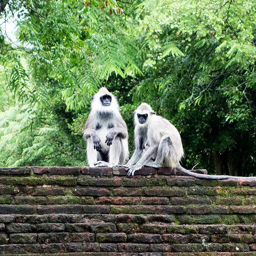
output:
M155 206L111 206L112 214L154 214L156 211Z

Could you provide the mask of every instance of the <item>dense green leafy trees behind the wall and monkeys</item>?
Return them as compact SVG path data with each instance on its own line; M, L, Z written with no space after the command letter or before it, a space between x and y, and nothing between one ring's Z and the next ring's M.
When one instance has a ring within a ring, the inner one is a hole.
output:
M90 96L106 86L131 152L144 101L180 130L184 167L256 174L254 0L0 4L0 166L86 165Z

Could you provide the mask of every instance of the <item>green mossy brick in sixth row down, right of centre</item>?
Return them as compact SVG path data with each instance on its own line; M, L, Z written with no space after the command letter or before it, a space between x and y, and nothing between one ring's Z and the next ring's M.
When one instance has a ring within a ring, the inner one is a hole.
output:
M220 224L220 215L176 215L181 224Z

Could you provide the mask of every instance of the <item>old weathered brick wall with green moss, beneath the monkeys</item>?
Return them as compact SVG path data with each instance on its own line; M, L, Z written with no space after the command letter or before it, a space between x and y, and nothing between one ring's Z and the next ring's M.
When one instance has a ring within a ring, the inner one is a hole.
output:
M256 255L256 180L143 168L0 168L0 254Z

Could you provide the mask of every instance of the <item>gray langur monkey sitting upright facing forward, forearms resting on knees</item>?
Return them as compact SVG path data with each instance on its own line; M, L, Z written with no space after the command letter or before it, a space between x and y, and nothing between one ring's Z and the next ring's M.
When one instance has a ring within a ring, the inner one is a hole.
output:
M124 164L129 156L128 130L115 96L102 87L94 95L84 126L90 167Z

